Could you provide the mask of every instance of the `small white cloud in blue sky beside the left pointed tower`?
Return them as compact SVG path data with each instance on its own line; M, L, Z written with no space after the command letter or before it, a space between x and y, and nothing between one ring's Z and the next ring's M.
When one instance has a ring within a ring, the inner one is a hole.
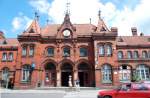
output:
M29 27L31 22L32 19L23 15L23 13L19 13L19 16L14 17L14 19L12 20L12 26L13 26L12 31L13 32L23 31L27 29L27 27Z

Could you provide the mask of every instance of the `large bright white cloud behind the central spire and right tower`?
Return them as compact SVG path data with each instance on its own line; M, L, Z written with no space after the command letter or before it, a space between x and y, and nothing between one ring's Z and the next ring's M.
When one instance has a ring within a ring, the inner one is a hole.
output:
M124 6L122 10L112 2L102 4L99 0L68 0L70 2L70 12L72 23L89 23L90 18L93 24L97 24L98 10L102 11L102 17L108 27L118 27L119 35L131 35L131 27L137 26L139 32L150 31L147 25L150 20L150 0L141 0L135 8ZM32 0L30 4L38 9L40 13L48 15L55 23L62 23L67 0ZM130 1L129 1L130 2Z

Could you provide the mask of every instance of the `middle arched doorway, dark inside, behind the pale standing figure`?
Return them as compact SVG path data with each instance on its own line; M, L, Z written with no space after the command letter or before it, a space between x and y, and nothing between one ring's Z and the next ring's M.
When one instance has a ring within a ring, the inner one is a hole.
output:
M73 67L69 63L64 63L61 67L61 85L69 86L69 76L72 76L73 79ZM73 82L72 82L73 83Z

